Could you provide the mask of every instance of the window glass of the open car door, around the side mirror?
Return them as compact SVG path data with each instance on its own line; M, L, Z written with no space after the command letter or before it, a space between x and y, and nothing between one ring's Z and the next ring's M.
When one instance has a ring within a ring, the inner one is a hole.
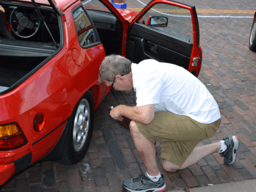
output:
M143 19L139 22L149 25L149 16L157 16L159 18L168 19L167 26L163 27L161 25L154 26L154 20L151 21L153 24L152 28L160 31L169 33L170 35L179 37L180 39L192 43L193 41L193 25L191 20L191 13L185 8L180 8L179 6L173 6L172 4L155 4L150 10L148 10ZM165 20L165 19L161 19Z

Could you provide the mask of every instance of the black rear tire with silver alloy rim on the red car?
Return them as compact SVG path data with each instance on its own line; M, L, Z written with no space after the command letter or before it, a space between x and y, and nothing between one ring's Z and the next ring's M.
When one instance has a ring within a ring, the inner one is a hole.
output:
M68 120L67 138L60 163L76 164L85 156L93 130L93 98L91 92L84 93L77 102Z

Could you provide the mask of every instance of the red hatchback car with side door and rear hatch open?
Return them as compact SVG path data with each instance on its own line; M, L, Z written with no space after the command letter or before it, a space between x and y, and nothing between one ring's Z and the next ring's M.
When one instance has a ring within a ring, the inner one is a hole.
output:
M108 0L0 0L0 185L38 161L84 157L93 109L109 91L97 81L106 54L198 76L195 7L155 0L139 13Z

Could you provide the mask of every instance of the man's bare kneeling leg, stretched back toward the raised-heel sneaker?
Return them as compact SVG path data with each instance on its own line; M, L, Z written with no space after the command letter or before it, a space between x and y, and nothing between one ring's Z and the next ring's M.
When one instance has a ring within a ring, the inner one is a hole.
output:
M221 142L211 143L209 145L203 145L200 147L195 147L191 154L188 156L186 161L182 164L182 166L177 166L166 159L163 159L162 164L164 170L166 172L175 172L177 170L183 170L184 168L188 168L189 166L198 163L201 159L214 152L219 152L221 147Z

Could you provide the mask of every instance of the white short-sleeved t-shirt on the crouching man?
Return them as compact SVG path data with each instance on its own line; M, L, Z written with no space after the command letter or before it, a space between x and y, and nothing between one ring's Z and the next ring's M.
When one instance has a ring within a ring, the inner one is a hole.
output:
M221 118L216 100L188 70L156 60L132 63L131 68L138 107L155 104L155 112L170 111L203 124Z

